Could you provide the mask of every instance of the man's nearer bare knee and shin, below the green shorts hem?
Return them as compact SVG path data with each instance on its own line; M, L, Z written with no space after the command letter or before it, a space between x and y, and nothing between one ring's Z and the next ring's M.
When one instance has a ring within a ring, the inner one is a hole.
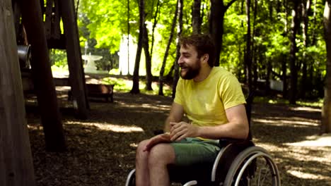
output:
M157 144L149 152L151 186L169 186L168 164L175 163L175 151L170 144Z

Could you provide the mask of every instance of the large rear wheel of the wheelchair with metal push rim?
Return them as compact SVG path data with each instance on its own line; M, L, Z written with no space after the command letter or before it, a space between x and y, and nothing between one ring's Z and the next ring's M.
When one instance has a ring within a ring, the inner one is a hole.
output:
M272 157L262 147L248 147L242 151L228 170L225 186L280 186L279 171Z

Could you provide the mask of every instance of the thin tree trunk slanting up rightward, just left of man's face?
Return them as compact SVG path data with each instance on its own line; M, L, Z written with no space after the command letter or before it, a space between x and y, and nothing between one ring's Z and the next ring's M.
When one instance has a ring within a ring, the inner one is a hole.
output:
M175 26L177 23L177 16L178 16L178 4L179 4L179 0L177 0L177 4L176 4L176 8L175 8L175 16L173 17L173 24L171 25L168 44L167 44L167 47L165 48L165 53L164 53L162 66L161 66L161 70L160 70L160 75L158 76L158 95L160 95L160 96L163 96L163 74L164 74L165 63L167 62L167 58L168 58L168 54L169 54L170 45L171 45L171 42L173 42L173 33L175 32Z

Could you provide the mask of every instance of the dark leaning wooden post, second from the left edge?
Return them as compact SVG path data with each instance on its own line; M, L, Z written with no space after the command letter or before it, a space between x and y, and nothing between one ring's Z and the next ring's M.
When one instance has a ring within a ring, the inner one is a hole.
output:
M64 131L57 105L40 1L18 0L18 2L21 5L28 42L31 44L31 72L45 132L46 149L64 151L66 149Z

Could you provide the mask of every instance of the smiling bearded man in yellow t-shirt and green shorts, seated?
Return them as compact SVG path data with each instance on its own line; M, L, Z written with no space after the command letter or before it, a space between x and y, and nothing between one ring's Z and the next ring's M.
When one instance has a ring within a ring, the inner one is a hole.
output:
M180 80L165 133L139 143L136 185L170 185L168 165L212 163L223 137L248 137L245 97L237 78L214 67L215 48L207 35L180 39ZM184 121L184 116L189 121Z

